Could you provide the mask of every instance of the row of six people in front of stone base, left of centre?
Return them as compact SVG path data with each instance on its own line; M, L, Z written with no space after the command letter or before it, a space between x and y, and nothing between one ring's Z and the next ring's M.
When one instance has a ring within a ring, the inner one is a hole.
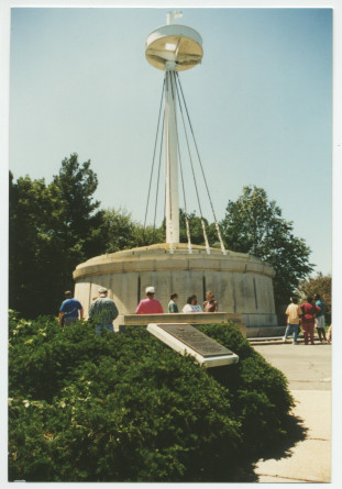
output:
M146 298L141 300L136 307L135 314L163 314L164 310L158 300L154 298L155 288L146 287ZM214 300L214 293L209 290L206 293L207 300L203 302L203 308L197 303L197 297L195 294L188 297L187 303L183 308L184 313L189 312L217 312L218 302ZM178 313L178 294L172 293L170 301L168 303L169 313ZM115 302L108 297L108 289L106 287L99 288L99 296L93 298L89 308L89 320L97 322L97 333L101 333L103 330L113 332L113 321L119 315ZM68 290L65 292L65 300L59 309L59 325L69 326L75 324L78 319L84 318L84 308L81 303L73 297L73 293Z

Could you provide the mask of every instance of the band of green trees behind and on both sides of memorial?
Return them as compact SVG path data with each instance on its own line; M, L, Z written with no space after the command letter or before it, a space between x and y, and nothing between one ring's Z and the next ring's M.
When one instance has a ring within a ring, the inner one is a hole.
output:
M57 312L63 291L73 289L73 271L86 259L165 241L165 220L158 227L132 220L125 209L101 210L93 199L98 186L90 162L77 154L62 162L51 184L10 175L10 308L26 318ZM187 242L186 213L179 210L179 240ZM205 245L202 222L187 214L191 243ZM210 246L218 246L214 223L203 219ZM276 305L288 301L299 280L312 270L310 249L293 234L293 223L266 192L245 187L230 201L220 223L229 249L250 253L276 271Z

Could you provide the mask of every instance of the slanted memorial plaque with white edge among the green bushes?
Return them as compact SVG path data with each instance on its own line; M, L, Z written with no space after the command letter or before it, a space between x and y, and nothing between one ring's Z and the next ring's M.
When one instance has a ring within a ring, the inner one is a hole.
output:
M181 355L192 355L206 367L218 367L239 362L225 346L187 323L150 323L147 331Z

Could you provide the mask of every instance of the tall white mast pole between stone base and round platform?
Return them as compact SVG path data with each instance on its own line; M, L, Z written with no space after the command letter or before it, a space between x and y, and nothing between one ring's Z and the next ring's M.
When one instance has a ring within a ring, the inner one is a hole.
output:
M166 146L166 243L179 243L178 135L174 62L166 63L165 146Z

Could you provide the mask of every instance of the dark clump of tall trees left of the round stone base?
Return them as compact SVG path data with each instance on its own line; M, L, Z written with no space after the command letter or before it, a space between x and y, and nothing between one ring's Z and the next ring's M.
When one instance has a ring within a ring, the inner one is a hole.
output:
M104 252L98 185L90 162L62 162L49 185L10 175L10 308L26 318L56 313L73 270Z

